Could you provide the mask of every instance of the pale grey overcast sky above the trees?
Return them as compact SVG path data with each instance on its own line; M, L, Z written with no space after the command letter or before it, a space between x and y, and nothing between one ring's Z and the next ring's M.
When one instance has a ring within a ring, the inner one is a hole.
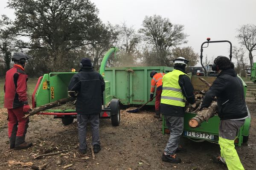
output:
M8 0L0 0L0 14L14 19L13 11L5 8ZM91 0L99 9L104 23L121 24L139 29L146 15L154 14L169 18L173 24L185 26L189 35L186 46L192 46L200 54L202 42L229 40L240 46L237 28L243 24L256 25L256 0ZM229 55L229 44L210 44L204 48L204 58Z

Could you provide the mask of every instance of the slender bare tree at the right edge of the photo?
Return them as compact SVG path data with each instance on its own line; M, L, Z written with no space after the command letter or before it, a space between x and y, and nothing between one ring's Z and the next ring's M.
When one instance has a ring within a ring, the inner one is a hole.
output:
M236 36L241 45L244 45L249 52L250 68L253 67L253 50L256 49L256 26L253 24L243 25L238 29Z

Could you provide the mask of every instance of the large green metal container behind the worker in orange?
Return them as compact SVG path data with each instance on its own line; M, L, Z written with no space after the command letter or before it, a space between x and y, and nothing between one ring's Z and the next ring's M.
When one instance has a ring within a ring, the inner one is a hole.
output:
M111 83L111 97L118 98L123 105L144 104L149 100L151 71L167 73L172 67L112 67L105 68L105 79ZM120 88L121 87L121 88ZM154 101L148 105L154 105Z

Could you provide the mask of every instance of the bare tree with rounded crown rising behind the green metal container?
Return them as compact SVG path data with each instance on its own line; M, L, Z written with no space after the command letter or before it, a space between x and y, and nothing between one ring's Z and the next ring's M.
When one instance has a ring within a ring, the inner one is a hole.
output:
M145 17L140 33L144 34L145 41L154 45L160 65L169 65L169 49L187 42L183 30L183 25L173 25L169 18L154 15Z

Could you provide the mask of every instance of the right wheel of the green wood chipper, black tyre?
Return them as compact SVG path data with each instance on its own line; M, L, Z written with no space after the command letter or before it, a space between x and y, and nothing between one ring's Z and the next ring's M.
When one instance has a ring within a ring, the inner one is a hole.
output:
M120 124L120 106L119 99L112 99L110 102L111 109L111 123L113 126Z

